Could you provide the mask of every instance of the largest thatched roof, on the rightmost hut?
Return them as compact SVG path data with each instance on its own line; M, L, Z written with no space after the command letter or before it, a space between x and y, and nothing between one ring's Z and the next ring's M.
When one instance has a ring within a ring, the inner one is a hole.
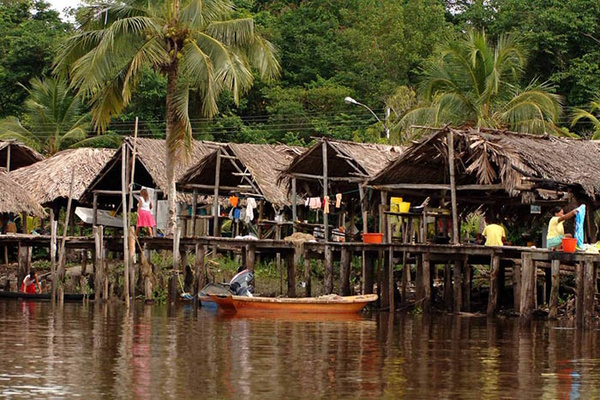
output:
M409 147L369 184L448 184L449 131L454 138L457 186L487 185L513 197L560 189L599 198L597 142L490 129L437 130Z

